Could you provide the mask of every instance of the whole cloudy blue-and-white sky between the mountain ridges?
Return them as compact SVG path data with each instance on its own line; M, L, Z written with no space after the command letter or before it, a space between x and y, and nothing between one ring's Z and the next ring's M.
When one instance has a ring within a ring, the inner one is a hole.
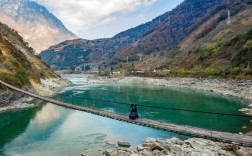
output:
M85 39L112 37L170 11L183 0L47 0L43 5Z

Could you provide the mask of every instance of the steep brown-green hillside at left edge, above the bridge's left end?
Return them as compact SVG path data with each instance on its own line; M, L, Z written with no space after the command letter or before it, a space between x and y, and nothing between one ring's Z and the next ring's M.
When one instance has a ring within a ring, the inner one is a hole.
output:
M0 23L0 79L17 87L31 87L41 78L57 77L13 29ZM4 89L1 88L0 90Z

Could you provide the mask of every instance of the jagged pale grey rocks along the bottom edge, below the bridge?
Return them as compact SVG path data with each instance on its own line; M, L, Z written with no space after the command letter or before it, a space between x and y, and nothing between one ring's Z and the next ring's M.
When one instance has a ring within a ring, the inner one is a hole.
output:
M146 138L145 143L134 149L117 147L103 152L102 156L251 156L252 148L213 142L201 138L162 141Z

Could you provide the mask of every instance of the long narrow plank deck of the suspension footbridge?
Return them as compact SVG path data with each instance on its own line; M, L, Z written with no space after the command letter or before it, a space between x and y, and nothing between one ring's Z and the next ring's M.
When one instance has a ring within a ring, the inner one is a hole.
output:
M101 111L97 109L92 109L92 108L87 108L83 106L77 106L73 105L70 103L62 102L62 101L57 101L48 97L43 97L37 94L33 94L27 91L24 91L22 89L16 88L8 83L5 83L0 80L0 84L24 93L28 96L34 97L36 99L40 99L43 101L50 102L52 104L56 104L59 106L63 106L66 108L71 108L75 110L80 110L84 111L87 113L92 113L95 115L103 116L103 117L108 117L111 119L116 119L124 122L129 122L132 124L137 124L137 125L142 125L142 126L147 126L147 127L152 127L156 129L162 129L165 131L170 131L170 132L175 132L179 134L184 134L184 135L189 135L189 136L195 136L195 137L203 137L207 139L211 139L214 141L221 141L221 142L227 142L227 143L235 143L243 146L248 146L252 147L252 137L251 136L246 136L246 135L240 135L240 134L233 134L233 133L227 133L227 132L219 132L219 131L211 131L203 128L197 128L197 127L191 127L191 126L184 126L184 125L176 125L172 123L167 123L167 122L158 122L154 120L147 120L147 119L137 119L137 120L129 120L128 116L126 115L120 115L116 113L111 113L111 112L106 112L106 111Z

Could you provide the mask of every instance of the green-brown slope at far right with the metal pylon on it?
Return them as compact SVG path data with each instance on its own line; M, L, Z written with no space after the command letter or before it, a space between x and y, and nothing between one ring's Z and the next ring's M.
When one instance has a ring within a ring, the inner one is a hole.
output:
M218 13L212 16L180 43L180 56L167 64L168 68L251 68L251 12L252 7L248 7L231 16L230 24L227 20L216 22L221 17Z

